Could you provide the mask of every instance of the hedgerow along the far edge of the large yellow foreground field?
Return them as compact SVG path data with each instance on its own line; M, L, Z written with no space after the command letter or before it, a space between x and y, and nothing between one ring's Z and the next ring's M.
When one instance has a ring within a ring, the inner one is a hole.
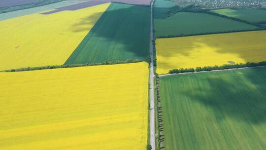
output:
M73 67L84 67L84 66L99 66L99 65L114 65L114 64L128 64L128 63L138 63L142 62L138 59L127 59L125 61L105 61L102 63L91 63L91 64L73 64L73 65L54 65L54 66L44 66L44 67L28 67L20 69L6 70L5 72L23 72L23 71L34 71L34 70L44 70L44 69L57 69L57 68L73 68Z

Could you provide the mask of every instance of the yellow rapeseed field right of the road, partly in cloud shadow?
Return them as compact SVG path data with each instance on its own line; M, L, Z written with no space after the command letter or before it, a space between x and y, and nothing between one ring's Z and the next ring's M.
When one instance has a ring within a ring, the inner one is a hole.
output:
M266 31L156 40L157 73L169 70L266 61Z

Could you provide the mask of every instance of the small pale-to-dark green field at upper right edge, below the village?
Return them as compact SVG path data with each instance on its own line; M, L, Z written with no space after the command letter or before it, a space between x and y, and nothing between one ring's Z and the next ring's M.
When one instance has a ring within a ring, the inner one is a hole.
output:
M252 9L252 8L239 8L239 9L217 9L211 12L221 15L234 17L248 22L259 23L266 22L266 10Z

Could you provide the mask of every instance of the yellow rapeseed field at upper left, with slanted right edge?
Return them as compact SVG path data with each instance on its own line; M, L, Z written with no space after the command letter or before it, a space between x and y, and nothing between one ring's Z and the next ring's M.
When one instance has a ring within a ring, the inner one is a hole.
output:
M109 5L0 21L0 71L63 65Z

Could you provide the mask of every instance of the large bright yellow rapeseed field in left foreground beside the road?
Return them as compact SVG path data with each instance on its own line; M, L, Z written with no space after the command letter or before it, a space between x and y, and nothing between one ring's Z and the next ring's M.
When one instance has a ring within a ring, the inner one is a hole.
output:
M0 150L146 150L148 64L0 73Z

